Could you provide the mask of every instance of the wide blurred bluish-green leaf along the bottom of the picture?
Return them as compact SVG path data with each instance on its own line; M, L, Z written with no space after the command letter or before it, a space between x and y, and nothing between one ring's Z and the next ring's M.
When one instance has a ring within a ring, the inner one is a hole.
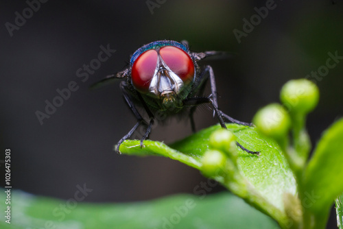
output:
M230 193L175 195L127 204L77 202L64 210L60 206L68 206L67 200L13 190L11 194L11 224L5 223L5 204L0 203L2 229L279 228L270 217ZM0 189L0 199L5 200L4 189Z

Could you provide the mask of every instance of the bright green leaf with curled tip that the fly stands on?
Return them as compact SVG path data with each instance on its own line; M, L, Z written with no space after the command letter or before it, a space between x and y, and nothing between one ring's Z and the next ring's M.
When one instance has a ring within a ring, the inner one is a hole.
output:
M257 192L270 206L283 212L283 194L287 192L295 195L296 181L279 145L272 139L261 136L255 128L237 124L228 124L227 127L237 136L237 141L241 145L247 149L261 152L260 156L255 156L239 149L238 165L244 177L252 186L255 186ZM145 141L145 147L141 149L139 141L125 141L121 145L120 151L123 154L139 156L166 156L201 170L201 158L209 149L209 136L218 129L220 129L219 125L212 126L171 144L170 147L160 142ZM223 182L221 178L217 180ZM269 206L256 207L264 209L264 212L265 208L269 208Z

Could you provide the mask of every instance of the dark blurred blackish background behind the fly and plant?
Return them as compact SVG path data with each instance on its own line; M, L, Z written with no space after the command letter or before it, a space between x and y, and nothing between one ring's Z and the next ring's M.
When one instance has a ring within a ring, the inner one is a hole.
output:
M154 40L185 39L193 51L235 53L204 64L214 69L220 108L241 121L251 121L261 106L279 101L287 80L310 75L321 95L307 121L316 143L343 114L343 60L324 71L329 52L343 56L343 1L275 1L265 19L255 21L238 42L234 29L244 32L243 19L250 21L255 8L265 5L266 1L239 0L50 0L30 15L25 1L1 1L0 160L10 148L12 187L68 199L76 185L86 183L93 189L86 198L91 202L193 193L205 180L196 169L167 158L115 154L113 145L135 119L119 83L88 90L105 75L123 70L130 54ZM25 23L17 19L21 26L16 25L16 12L27 16ZM97 59L101 45L116 51L88 80L78 77L78 69ZM311 71L322 71L322 76L315 78ZM45 112L45 100L52 102L56 90L71 81L78 90L41 125L36 111ZM215 123L211 110L196 112L198 130ZM189 134L189 121L174 120L158 125L150 138L171 143Z

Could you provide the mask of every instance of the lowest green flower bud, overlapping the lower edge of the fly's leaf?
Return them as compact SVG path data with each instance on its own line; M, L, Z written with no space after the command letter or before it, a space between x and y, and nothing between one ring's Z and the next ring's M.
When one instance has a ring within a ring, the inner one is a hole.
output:
M202 173L208 177L221 176L224 173L226 156L217 150L209 150L202 157Z

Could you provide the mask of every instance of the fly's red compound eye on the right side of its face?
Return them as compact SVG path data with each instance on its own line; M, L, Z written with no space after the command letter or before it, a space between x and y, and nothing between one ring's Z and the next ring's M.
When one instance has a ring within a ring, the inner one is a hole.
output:
M193 81L194 64L189 55L174 46L165 46L160 49L160 55L171 71L185 83Z

